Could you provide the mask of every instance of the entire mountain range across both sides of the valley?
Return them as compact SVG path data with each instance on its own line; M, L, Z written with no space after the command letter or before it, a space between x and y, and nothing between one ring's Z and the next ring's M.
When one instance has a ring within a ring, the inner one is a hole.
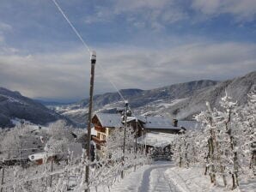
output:
M256 71L228 81L190 81L150 90L121 89L119 93L129 101L131 110L139 115L192 119L206 109L206 101L220 108L225 92L239 105L247 103L247 93L256 87ZM94 95L95 112L116 112L124 107L119 93ZM47 105L47 107L43 104ZM88 120L88 99L63 105L29 99L21 93L0 87L0 127L12 126L11 119L20 118L44 125L65 119L85 127Z

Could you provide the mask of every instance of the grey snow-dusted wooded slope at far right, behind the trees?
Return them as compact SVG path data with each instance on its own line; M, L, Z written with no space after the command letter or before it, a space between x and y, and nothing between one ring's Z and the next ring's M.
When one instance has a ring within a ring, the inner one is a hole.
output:
M219 101L228 93L238 105L247 103L247 94L256 88L256 71L232 80L222 81L213 87L205 87L193 93L188 99L183 100L162 113L168 113L177 118L192 118L194 114L206 110L206 101L212 107L220 108Z

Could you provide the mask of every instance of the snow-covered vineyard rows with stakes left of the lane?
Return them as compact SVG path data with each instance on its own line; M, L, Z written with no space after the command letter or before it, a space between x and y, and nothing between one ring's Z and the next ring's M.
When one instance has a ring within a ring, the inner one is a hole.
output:
M128 174L136 166L150 163L148 156L140 151L126 152L125 162L122 161L122 157L123 153L119 152L112 158L88 162L84 156L74 159L72 153L69 153L68 159L64 161L54 162L52 159L43 165L28 163L27 166L9 166L3 163L0 190L1 192L83 191L89 187L97 191L99 186L109 189L119 179L122 171ZM89 183L84 182L86 165L90 165Z

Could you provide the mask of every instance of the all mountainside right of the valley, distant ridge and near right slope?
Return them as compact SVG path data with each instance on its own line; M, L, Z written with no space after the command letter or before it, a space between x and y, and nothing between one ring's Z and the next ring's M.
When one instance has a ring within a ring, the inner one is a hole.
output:
M247 102L247 93L256 84L256 71L229 81L191 81L151 90L123 89L120 92L129 100L131 109L137 114L163 115L179 119L191 119L199 111L205 110L205 102L219 107L219 100L225 94L237 100L240 105ZM94 96L94 112L115 112L124 106L119 93L105 93ZM86 123L88 99L74 105L55 107L64 116L77 123Z

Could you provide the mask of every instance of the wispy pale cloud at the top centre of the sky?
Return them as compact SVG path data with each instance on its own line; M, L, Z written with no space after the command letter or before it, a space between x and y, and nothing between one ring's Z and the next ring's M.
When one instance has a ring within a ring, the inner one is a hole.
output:
M125 20L134 27L156 30L186 19L186 13L173 0L111 0L107 7L96 7L94 15L88 15L85 22L113 21L119 15L125 15Z

